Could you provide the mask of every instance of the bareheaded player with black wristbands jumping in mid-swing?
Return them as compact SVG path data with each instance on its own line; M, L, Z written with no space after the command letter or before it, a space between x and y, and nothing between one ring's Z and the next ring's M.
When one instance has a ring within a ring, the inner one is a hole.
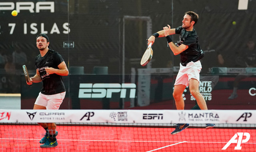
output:
M194 29L194 25L197 21L198 14L192 11L186 12L182 20L182 26L172 29L169 25L165 26L163 30L152 34L152 36L148 38L148 44L153 44L156 37L165 36L174 55L180 54L180 70L176 77L173 91L177 110L184 110L182 94L186 86L189 86L190 93L196 99L200 109L208 109L204 97L199 92L199 73L202 68L200 59L204 56L204 52L199 46L198 36ZM180 34L178 46L172 42L170 37L172 34ZM177 134L185 128L188 128L188 126L189 124L177 124L176 129L171 134ZM206 124L206 129L213 128L214 126L214 124Z

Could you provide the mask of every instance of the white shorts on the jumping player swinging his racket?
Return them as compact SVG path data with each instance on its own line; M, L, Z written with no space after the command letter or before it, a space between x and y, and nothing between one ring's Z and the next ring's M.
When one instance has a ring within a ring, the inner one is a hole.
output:
M196 62L189 62L186 66L182 66L180 63L180 70L176 77L174 85L183 84L188 86L189 80L194 78L200 82L200 71L202 69L201 62L198 60Z

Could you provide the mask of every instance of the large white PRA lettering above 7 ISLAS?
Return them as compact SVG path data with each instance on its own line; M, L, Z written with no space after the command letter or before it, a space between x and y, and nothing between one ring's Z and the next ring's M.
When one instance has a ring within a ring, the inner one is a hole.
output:
M16 10L19 13L20 10L29 10L30 13L39 13L40 10L50 10L54 13L54 2L16 2ZM0 10L15 10L14 2L0 2Z

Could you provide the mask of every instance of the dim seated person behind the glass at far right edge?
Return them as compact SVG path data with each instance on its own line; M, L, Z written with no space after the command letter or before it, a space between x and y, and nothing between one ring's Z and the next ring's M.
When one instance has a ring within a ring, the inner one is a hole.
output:
M246 67L256 67L256 50L255 50L255 42L254 40L252 40L251 38L247 41L246 43L246 48L245 50L242 51L243 56L242 56L242 60L240 60L239 64L244 64ZM252 76L252 74L248 73L240 73L236 76L235 80L234 80L234 84L233 84L233 92L232 94L228 97L228 99L234 99L237 98L237 90L238 90L238 85L239 82L244 79L247 78L249 76Z

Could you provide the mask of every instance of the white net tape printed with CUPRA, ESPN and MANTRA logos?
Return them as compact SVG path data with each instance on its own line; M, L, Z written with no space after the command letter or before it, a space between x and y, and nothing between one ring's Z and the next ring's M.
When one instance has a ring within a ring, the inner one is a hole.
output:
M6 110L1 122L255 124L256 110Z

